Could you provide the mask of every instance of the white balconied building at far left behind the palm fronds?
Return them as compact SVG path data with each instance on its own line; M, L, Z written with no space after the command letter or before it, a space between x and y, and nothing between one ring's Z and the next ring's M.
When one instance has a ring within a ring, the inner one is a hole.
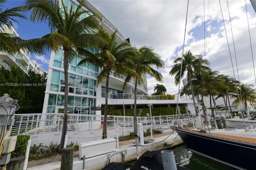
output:
M5 27L5 31L6 33L10 33L13 37L19 37L17 31L13 27L11 27L11 29ZM30 59L30 54L23 50L20 50L20 52L15 55L0 52L0 67L11 70L11 66L20 67L26 74L28 74L29 70L39 74L44 73L44 70L38 66L38 63L35 60Z

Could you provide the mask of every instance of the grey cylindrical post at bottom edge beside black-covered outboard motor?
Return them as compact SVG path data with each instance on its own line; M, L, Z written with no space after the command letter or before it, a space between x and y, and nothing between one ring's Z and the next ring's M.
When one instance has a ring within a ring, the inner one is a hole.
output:
M177 170L173 151L162 150L161 155L162 155L164 170Z

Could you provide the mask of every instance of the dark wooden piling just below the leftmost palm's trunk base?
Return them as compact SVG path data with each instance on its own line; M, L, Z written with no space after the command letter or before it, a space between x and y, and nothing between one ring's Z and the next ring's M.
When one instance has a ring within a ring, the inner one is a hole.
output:
M60 170L72 170L74 158L74 147L62 149Z

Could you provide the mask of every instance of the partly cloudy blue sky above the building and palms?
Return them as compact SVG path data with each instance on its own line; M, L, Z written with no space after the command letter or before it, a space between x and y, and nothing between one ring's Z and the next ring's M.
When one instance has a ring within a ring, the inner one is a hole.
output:
M154 78L147 77L148 94L154 92L156 83L164 84L168 94L176 94L178 87L175 86L174 78L169 75L169 71L173 65L174 58L182 54L187 1L90 2L122 32L125 38L130 38L133 46L153 47L155 52L165 62L165 69L158 70L163 74L163 82L157 82ZM246 2L249 12L253 56L256 64L256 13L250 2L248 0ZM22 1L9 1L4 7L18 6L22 3ZM255 85L245 1L228 0L228 4L233 27L239 80L243 83ZM226 24L235 76L237 78L226 0L221 1L221 7ZM27 21L22 20L19 24L15 25L21 38L42 37L49 33L46 23L31 23L29 21L30 13L28 12L26 15L28 16ZM205 40L204 23L207 26L207 32L205 31L207 37ZM204 41L207 42L206 56L204 56ZM213 71L219 71L220 74L227 74L234 78L219 1L189 1L185 52L188 50L191 50L195 55L201 54L209 60ZM31 56L31 58L37 60L45 71L48 70L49 52L46 55Z

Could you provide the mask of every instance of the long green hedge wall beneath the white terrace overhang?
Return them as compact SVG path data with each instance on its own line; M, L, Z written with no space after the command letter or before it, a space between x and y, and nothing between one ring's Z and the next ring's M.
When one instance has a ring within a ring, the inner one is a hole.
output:
M186 108L180 107L181 114L186 114ZM123 109L115 109L115 113L122 114L123 116ZM137 115L138 116L147 116L147 113L149 113L149 108L137 108ZM164 116L164 115L174 115L176 113L176 107L155 107L151 108L152 116ZM101 114L104 114L104 111L101 112ZM114 115L114 114L112 114ZM133 116L133 109L125 109L125 116Z

